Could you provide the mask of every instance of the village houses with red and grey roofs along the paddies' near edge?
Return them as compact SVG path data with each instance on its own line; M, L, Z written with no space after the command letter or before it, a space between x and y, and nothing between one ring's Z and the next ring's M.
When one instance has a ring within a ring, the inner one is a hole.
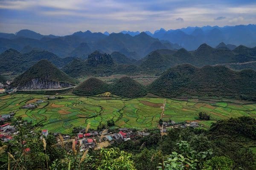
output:
M37 101L43 102L43 101ZM33 109L36 107L36 104L27 104L22 108ZM2 142L9 142L13 139L15 135L19 133L11 123L11 119L15 115L14 112L9 114L4 114L0 116L0 139ZM113 143L121 143L128 140L136 140L136 137L145 137L150 136L152 131L158 131L162 135L166 135L169 128L186 128L186 127L199 127L198 122L183 122L175 123L174 121L162 121L160 120L158 128L153 130L134 130L129 128L119 128L111 131L101 130L101 131L88 131L86 128L79 130L79 133L76 135L73 134L61 134L61 133L52 133L56 137L58 142L61 142L60 136L64 142L71 142L75 139L76 144L80 144L81 150L87 149L99 149L102 147L108 147ZM32 131L33 132L33 131ZM31 133L32 133L31 132ZM42 136L48 136L49 132L47 129L41 131ZM62 141L63 142L63 141ZM29 150L29 148L28 148Z

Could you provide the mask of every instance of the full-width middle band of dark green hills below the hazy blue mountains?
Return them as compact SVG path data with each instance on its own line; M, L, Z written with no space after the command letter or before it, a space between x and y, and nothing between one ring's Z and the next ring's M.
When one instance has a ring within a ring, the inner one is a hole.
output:
M118 51L111 54L94 51L88 55L87 59L82 59L75 57L60 58L51 52L41 51L41 49L24 54L9 49L0 54L0 74L20 74L41 59L49 60L72 77L108 76L112 74L160 74L168 68L184 63L197 67L224 65L239 70L256 69L256 47L248 48L243 45L235 47L221 42L216 48L202 44L195 51L187 51L184 48L179 50L157 49L140 60L132 59ZM229 48L234 49L230 50Z

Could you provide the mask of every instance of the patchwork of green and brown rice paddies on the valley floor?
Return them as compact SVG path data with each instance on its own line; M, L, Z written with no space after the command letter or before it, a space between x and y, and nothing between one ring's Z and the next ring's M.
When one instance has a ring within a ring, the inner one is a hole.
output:
M0 114L15 111L15 116L42 124L41 129L51 132L70 133L73 127L90 127L96 129L99 122L113 119L116 127L135 129L154 129L163 111L162 119L184 122L196 120L200 111L211 116L210 121L201 121L200 125L210 127L212 122L231 117L256 117L256 103L233 99L164 99L143 97L121 99L119 97L82 97L59 95L62 99L47 100L41 94L11 94L0 96ZM33 110L21 107L44 100Z

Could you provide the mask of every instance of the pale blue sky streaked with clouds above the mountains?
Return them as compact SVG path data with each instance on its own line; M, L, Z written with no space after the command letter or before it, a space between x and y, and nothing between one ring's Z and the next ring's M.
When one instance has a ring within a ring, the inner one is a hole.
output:
M0 32L48 35L256 24L256 0L0 0Z

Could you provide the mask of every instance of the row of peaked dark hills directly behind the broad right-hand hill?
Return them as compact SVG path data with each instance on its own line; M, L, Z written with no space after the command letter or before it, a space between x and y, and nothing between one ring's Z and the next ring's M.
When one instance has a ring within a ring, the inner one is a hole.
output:
M140 60L140 66L148 71L165 71L175 65L189 63L198 67L204 65L216 65L223 63L243 63L256 61L256 48L248 48L243 45L233 50L228 48L212 48L202 44L195 51L156 50Z

